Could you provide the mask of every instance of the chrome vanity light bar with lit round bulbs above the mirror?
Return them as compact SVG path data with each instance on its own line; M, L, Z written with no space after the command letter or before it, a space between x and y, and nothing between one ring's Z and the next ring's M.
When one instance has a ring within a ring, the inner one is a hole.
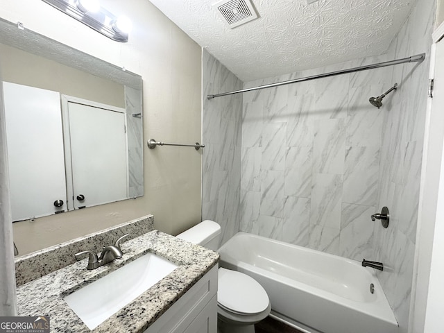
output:
M128 42L132 24L102 8L99 0L42 0L117 42Z

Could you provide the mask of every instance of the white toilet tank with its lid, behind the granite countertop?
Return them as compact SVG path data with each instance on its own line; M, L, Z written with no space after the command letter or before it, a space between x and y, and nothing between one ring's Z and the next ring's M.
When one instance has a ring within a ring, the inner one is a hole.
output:
M214 221L205 220L176 237L215 251L221 242L221 226Z

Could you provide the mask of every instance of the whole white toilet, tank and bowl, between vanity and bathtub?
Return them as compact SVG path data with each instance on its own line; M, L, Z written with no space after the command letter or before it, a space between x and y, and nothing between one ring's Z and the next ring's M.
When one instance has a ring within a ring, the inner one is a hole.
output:
M205 220L177 237L216 251L221 226ZM265 289L250 276L222 267L218 271L218 286L218 332L254 333L255 323L270 314L271 303Z

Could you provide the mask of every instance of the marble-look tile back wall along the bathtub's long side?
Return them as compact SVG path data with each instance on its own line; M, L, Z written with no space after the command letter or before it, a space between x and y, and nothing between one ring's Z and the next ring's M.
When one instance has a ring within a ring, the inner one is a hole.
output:
M381 62L386 57L245 84L253 87ZM386 70L244 93L241 225L291 244L362 260L373 254L382 124L370 105Z

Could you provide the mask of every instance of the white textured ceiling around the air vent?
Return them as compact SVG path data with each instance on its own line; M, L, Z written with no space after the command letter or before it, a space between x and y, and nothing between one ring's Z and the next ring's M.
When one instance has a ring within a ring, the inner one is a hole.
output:
M259 18L231 29L216 1L151 0L244 81L382 54L416 2L253 0Z

